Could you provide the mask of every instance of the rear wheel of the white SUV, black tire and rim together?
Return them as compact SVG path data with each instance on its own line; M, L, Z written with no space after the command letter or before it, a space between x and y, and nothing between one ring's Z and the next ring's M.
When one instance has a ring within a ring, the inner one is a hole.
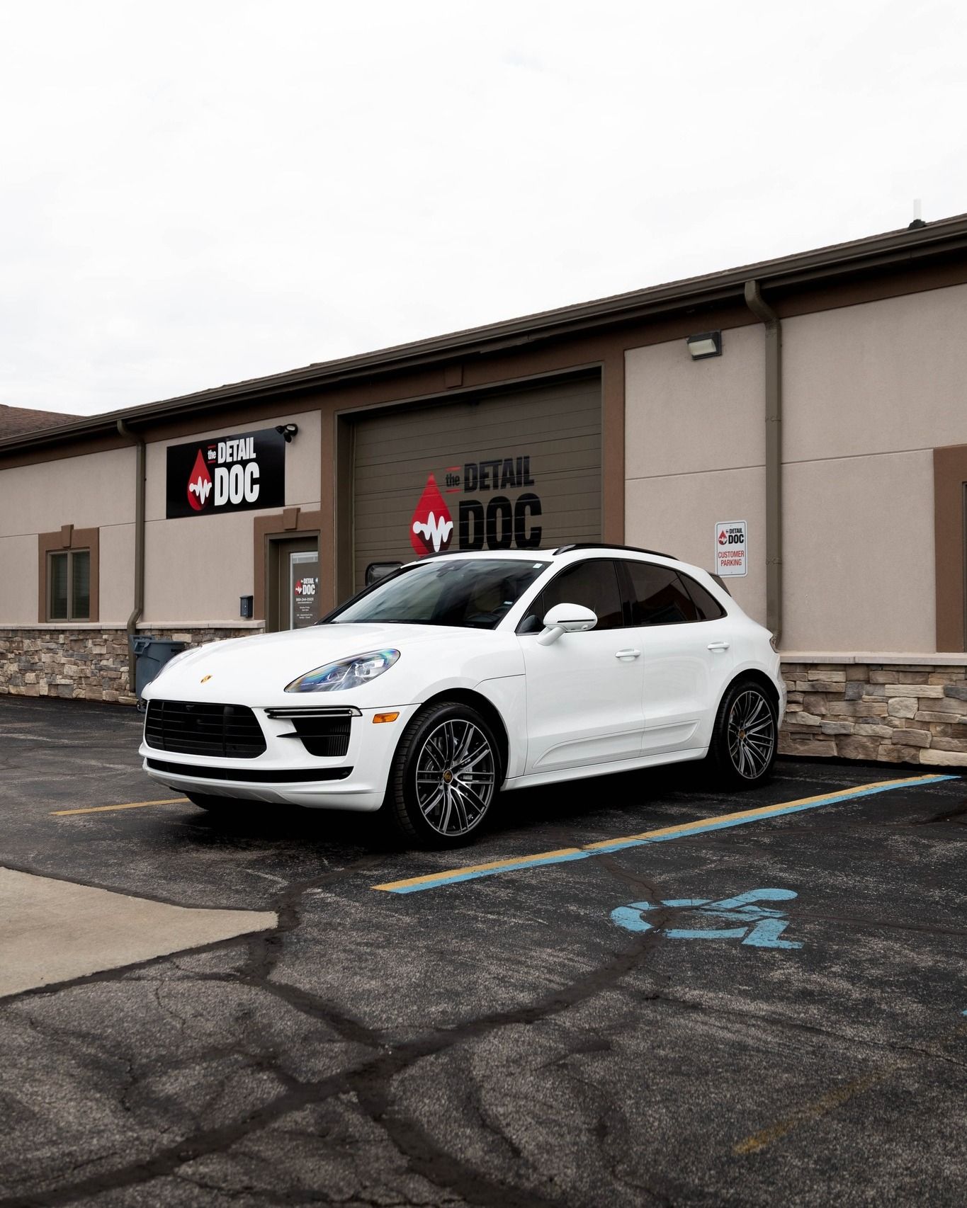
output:
M716 784L754 789L772 774L778 748L776 704L766 687L741 679L722 698L708 763Z

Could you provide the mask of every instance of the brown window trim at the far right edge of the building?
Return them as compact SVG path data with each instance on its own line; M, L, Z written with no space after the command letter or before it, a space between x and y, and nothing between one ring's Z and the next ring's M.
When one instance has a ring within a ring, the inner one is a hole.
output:
M937 649L967 650L967 445L933 451L933 541L937 552Z

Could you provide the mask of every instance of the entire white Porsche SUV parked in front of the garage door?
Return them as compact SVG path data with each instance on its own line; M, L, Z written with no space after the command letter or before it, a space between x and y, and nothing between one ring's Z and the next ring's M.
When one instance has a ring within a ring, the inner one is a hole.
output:
M415 562L318 625L184 651L144 698L144 768L197 806L378 811L428 847L498 790L706 757L759 784L786 708L713 576L608 545Z

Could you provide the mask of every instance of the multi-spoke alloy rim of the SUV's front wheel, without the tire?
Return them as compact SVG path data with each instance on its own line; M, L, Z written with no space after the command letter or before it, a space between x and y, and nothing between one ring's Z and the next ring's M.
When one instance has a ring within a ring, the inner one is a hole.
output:
M416 761L416 800L423 820L452 838L471 831L490 808L497 762L487 736L473 721L441 722Z

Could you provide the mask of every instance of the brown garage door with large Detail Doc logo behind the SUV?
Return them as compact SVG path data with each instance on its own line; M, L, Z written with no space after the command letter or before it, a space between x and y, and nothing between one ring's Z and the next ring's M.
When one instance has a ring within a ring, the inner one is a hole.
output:
M601 540L601 378L360 419L353 495L357 588L371 563Z

